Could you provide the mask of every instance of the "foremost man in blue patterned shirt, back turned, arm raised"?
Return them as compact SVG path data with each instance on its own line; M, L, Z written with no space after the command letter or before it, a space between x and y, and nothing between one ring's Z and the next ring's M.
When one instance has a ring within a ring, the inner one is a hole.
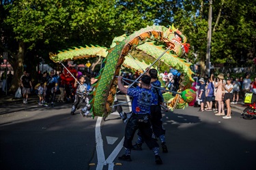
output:
M118 160L132 161L130 152L132 150L132 139L137 129L141 131L143 139L147 146L155 154L155 163L160 165L162 160L159 156L159 145L152 131L150 122L150 107L156 96L150 90L151 78L149 75L143 75L141 78L141 88L126 88L122 84L122 76L118 76L118 88L126 95L133 97L132 99L132 116L128 119L125 129L124 149L125 154L118 157Z

